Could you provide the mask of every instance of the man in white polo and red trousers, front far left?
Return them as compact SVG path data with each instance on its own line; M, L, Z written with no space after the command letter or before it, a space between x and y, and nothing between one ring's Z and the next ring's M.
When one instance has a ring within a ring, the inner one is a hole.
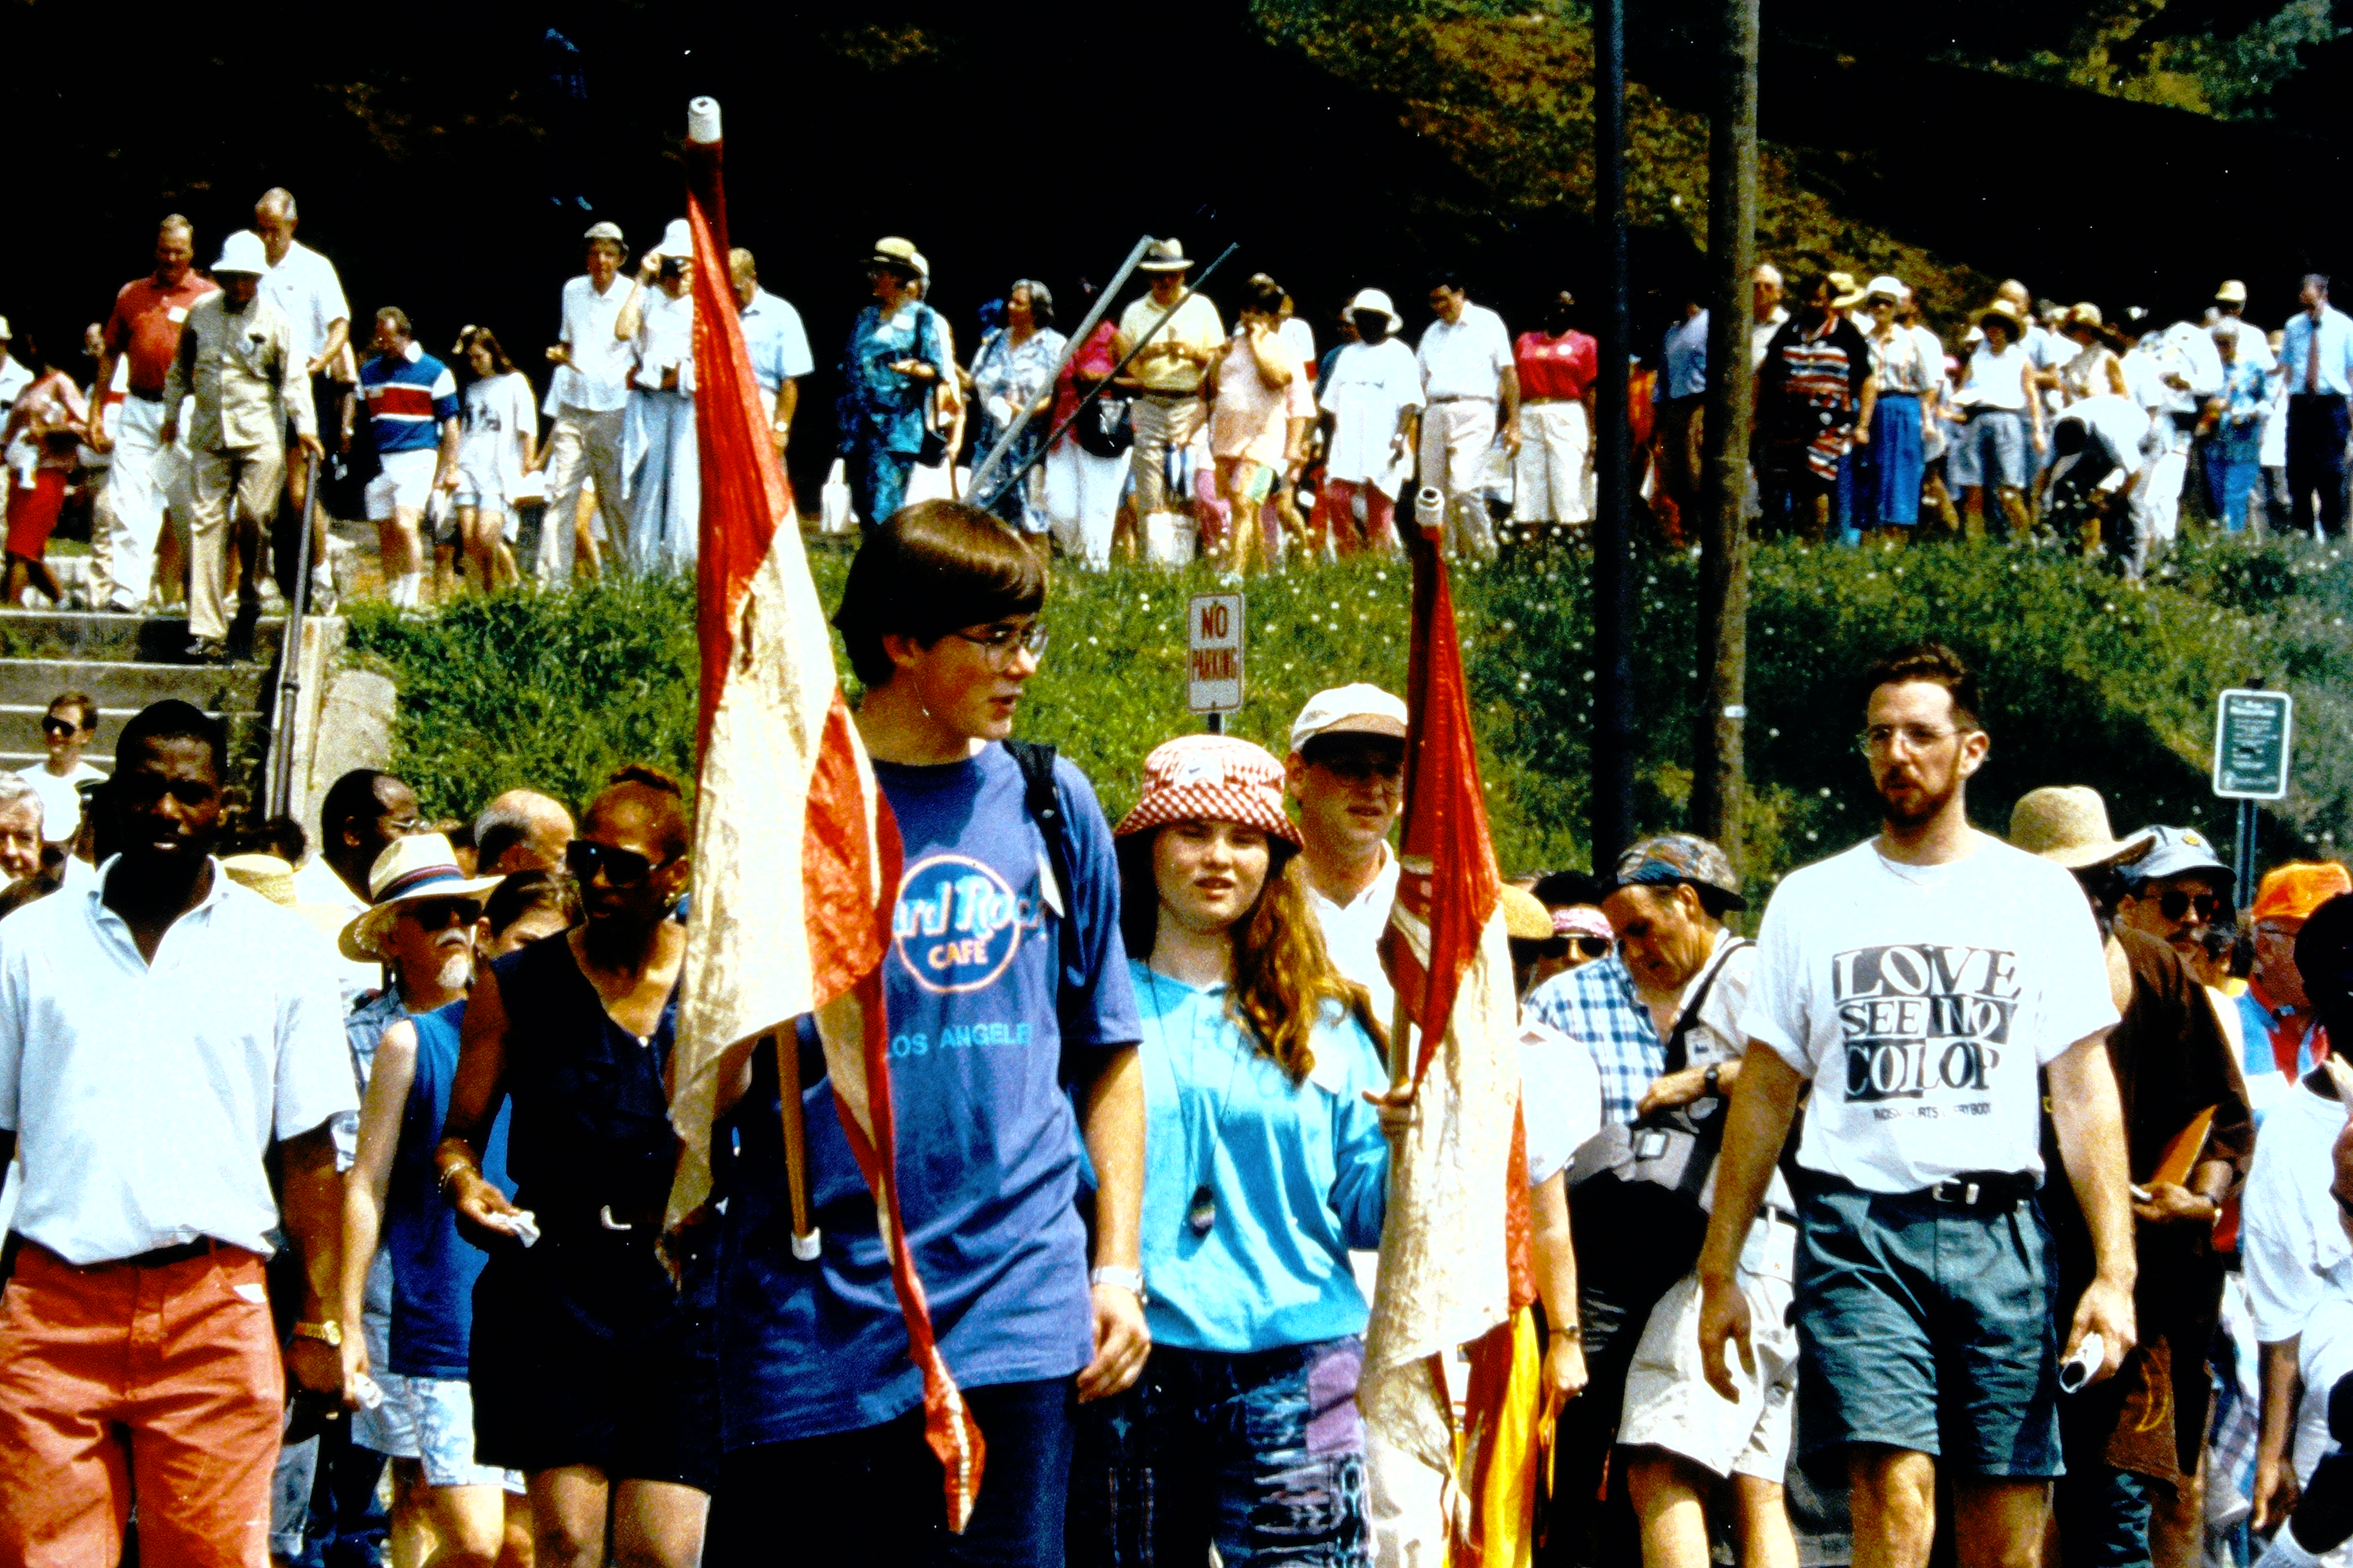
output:
M306 922L212 858L224 736L188 703L122 726L122 853L0 929L0 1159L24 1194L0 1309L0 1561L268 1552L287 1375L339 1396L341 1178L358 1110ZM275 1152L282 1201L271 1197ZM280 1354L264 1255L301 1255Z

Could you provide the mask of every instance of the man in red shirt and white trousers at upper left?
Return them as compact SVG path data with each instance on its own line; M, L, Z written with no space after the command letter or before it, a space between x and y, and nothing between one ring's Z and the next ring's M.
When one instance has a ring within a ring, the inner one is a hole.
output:
M108 437L99 423L99 404L89 407L92 451L113 451L108 475L111 564L106 609L139 614L155 576L155 541L162 534L165 505L188 527L193 498L188 491L188 449L162 440L162 428L179 409L162 404L162 381L179 353L179 329L188 306L216 292L209 277L191 270L195 228L176 212L155 228L155 273L134 277L115 294L115 313L106 320L106 350L96 386L113 386L115 360L129 360L129 397L122 402L122 428ZM169 597L169 595L162 595Z

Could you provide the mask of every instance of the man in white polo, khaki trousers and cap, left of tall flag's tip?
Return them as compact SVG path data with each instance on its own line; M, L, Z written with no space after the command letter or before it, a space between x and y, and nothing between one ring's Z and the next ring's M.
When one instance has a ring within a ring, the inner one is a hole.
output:
M628 515L621 510L621 416L628 411L633 346L614 331L631 294L621 282L628 247L619 223L591 223L586 240L588 270L565 284L565 322L548 350L555 381L541 404L548 444L539 449L539 461L548 470L548 503L534 569L541 583L555 588L572 581L572 520L588 480L595 480L595 512L605 524L600 538L628 538Z

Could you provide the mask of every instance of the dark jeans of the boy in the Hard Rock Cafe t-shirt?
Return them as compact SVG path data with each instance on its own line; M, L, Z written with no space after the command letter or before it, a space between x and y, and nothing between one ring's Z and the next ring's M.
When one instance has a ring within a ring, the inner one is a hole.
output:
M1071 1378L965 1389L988 1455L962 1535L948 1535L944 1472L922 1441L922 1408L859 1432L736 1448L720 1460L704 1563L772 1568L795 1559L795 1530L831 1521L854 1549L812 1552L809 1561L1061 1568L1075 1399Z

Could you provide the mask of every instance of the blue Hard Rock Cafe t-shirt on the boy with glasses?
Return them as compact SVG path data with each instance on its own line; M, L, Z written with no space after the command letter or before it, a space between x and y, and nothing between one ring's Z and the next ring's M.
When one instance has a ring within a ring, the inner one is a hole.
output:
M1120 877L1094 790L1054 764L1071 851L1061 900L1045 835L1002 745L948 766L875 764L906 872L885 954L899 1206L948 1371L974 1389L1068 1378L1094 1354L1087 1239L1075 1199L1080 1128L1071 1067L1141 1034L1120 945ZM1078 1039L1064 1041L1066 987ZM793 1260L774 1056L720 1128L720 1406L729 1450L875 1427L922 1403L906 1321L849 1154L814 1027L802 1020L809 1190L824 1253ZM1089 1060L1096 1058L1096 1060ZM725 1152L725 1150L722 1150ZM732 1166L732 1168L727 1168Z

